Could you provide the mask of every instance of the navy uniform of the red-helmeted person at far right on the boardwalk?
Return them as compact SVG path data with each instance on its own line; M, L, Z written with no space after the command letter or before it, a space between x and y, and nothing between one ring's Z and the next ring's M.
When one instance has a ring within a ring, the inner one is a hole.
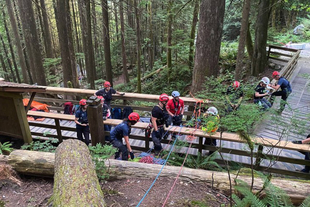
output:
M288 81L286 78L283 78L283 77L279 78L277 85L280 85L281 91L276 91L276 92L272 93L272 95L270 97L270 103L271 103L271 105L273 105L273 102L274 102L276 96L281 96L282 100L280 103L279 112L282 113L282 111L285 108L286 99L290 95L290 93L292 92L292 87L290 85L290 81Z

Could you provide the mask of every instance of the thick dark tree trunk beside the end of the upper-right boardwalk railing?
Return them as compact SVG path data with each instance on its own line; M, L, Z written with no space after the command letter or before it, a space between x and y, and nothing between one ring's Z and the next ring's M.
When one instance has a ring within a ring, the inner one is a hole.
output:
M267 32L269 21L269 2L270 0L261 0L256 20L255 45L252 57L252 75L257 76L265 70L267 66Z

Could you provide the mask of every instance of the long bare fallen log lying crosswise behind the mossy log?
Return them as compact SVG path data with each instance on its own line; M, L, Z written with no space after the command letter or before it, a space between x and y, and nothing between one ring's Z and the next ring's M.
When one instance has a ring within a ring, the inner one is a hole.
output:
M49 156L51 154L45 152L36 152L36 158L34 156L29 156L29 159L33 161L26 161L24 160L26 156L29 155L29 152L32 153L33 151L23 151L23 150L16 150L13 151L8 159L8 163L11 164L15 170L19 173L25 173L33 175L42 175L42 171L39 170L38 174L31 169L38 169L36 166L36 161L34 159L39 160L39 165L42 167L42 163L44 160L47 159L47 165L44 166L46 175L51 175L54 173L54 168L51 167L50 163L48 162ZM28 164L28 167L23 164L23 161L18 161L18 164L15 164L17 160L23 159L24 162ZM53 159L53 158L51 158ZM30 165L29 165L30 164ZM19 167L18 165L22 165ZM120 160L108 160L106 161L106 165L110 165L110 180L119 180L134 175L135 177L140 178L155 178L157 173L161 169L162 165L156 164L144 164L144 163L137 163L137 162L130 162L130 161L120 161ZM49 168L49 170L47 170ZM160 177L166 177L175 179L176 175L179 173L179 167L175 166L165 166L162 170ZM213 176L213 178L212 178ZM232 180L236 178L236 175L231 174ZM208 171L208 170L199 170L199 169L190 169L190 168L183 168L180 176L180 180L183 181L192 181L198 182L204 185L212 186L221 189L225 193L229 194L229 179L228 173L225 172L215 172L215 171ZM239 175L238 179L242 179L247 183L251 183L251 176L249 175ZM286 191L286 193L290 196L293 203L298 204L302 200L304 200L310 194L310 184L309 182L303 182L298 180L292 179L284 179L284 178L273 178L272 183ZM254 180L254 191L259 191L263 186L263 181L260 178L255 178Z

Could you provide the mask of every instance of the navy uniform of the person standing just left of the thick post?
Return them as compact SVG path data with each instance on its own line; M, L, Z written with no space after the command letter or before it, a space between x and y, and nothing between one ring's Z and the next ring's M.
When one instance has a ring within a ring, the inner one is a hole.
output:
M78 118L78 122L81 124L88 124L87 119L87 111L83 111L82 109L77 110L75 113L75 118ZM81 126L76 124L77 137L78 140L83 141L83 135L85 137L85 144L89 145L89 126Z

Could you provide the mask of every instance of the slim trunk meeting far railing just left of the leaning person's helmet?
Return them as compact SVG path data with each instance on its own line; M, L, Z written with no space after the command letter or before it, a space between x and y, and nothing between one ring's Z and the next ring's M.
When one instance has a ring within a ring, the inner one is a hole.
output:
M95 70L95 56L94 56L94 47L93 47L93 38L91 36L91 1L86 0L85 1L85 16L86 16L86 29L87 29L87 36L86 36L86 42L87 42L87 53L88 53L88 59L89 59L89 66L91 70L91 89L95 89L95 77L94 77L94 70Z

